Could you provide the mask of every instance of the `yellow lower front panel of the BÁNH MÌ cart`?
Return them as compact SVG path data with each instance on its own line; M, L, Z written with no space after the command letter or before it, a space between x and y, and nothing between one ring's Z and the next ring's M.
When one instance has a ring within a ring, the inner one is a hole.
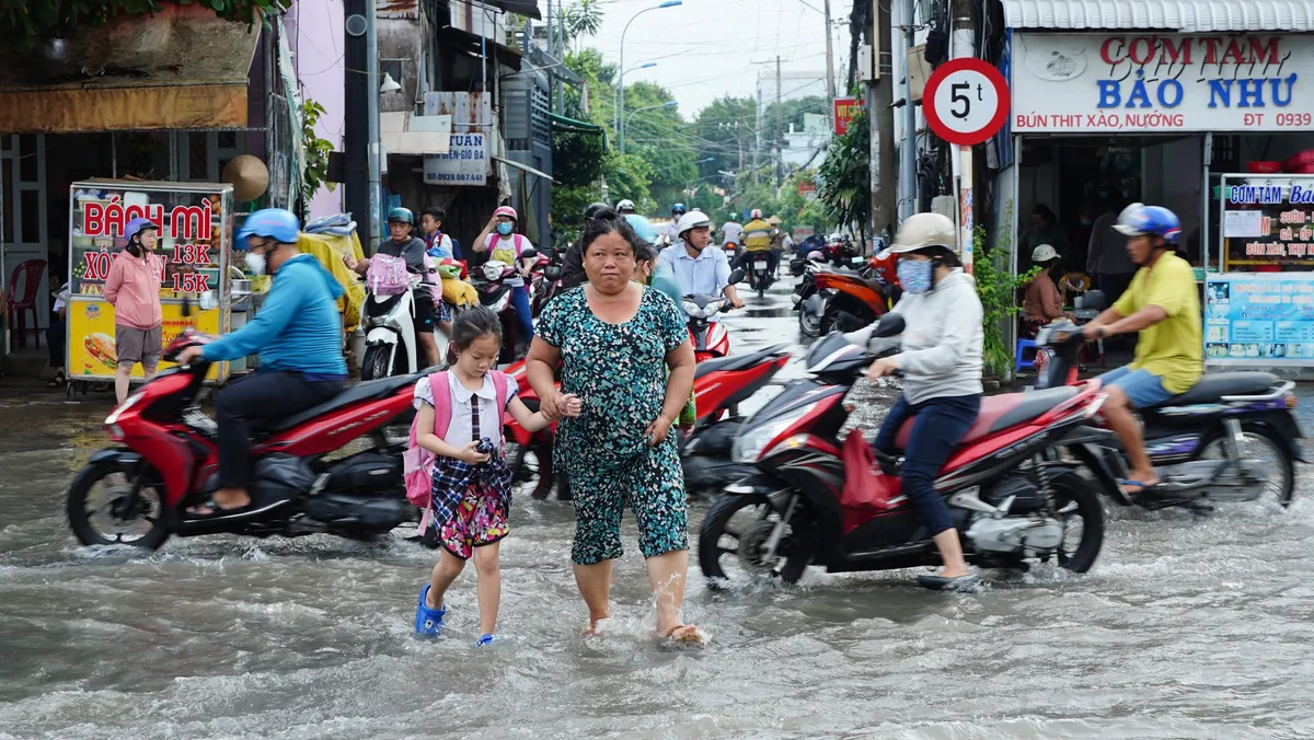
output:
M183 318L181 304L166 302L163 342L167 347L185 327L196 322L196 329L205 334L218 335L219 309L208 312L198 310L193 304L192 318ZM70 380L113 380L118 368L118 356L114 352L114 306L100 301L87 300L74 296L68 304L68 377ZM206 377L215 380L222 365L215 363L210 367ZM160 369L173 367L172 363L160 363ZM225 375L227 375L225 372ZM133 377L142 377L142 365L133 367Z

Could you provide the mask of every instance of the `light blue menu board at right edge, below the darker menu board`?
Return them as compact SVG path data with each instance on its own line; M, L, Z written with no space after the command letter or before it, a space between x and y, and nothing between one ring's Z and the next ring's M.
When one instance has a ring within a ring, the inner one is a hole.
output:
M1314 273L1210 275L1205 361L1314 365Z

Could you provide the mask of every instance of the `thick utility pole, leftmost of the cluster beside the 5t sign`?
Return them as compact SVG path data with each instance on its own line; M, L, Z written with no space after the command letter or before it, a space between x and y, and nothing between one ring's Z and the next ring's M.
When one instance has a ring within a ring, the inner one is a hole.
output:
M871 126L871 235L875 237L894 225L897 217L895 183L899 173L895 168L895 112L891 108L895 80L890 49L890 3L870 1L875 79L867 91L867 124Z

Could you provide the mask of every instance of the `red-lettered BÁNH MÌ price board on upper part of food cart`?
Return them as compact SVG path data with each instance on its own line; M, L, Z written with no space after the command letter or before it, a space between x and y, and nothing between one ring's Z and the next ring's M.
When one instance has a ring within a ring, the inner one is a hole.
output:
M183 293L226 293L219 250L229 243L221 193L189 191L127 189L81 184L72 192L70 292L99 296L109 266L118 259L126 239L124 227L133 218L146 218L160 227L155 247L164 263L162 298Z

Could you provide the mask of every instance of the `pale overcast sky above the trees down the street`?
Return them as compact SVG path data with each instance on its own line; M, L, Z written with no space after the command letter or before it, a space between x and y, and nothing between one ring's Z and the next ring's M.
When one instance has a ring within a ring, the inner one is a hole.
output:
M670 89L679 112L692 120L717 97L756 95L758 72L817 72L825 76L823 0L682 0L682 5L649 11L625 33L625 84L648 80ZM600 0L602 29L585 41L612 63L620 62L625 24L661 0ZM836 87L848 70L849 12L853 0L832 0ZM644 62L656 67L631 71ZM765 62L754 64L754 62ZM788 91L782 88L788 96Z

